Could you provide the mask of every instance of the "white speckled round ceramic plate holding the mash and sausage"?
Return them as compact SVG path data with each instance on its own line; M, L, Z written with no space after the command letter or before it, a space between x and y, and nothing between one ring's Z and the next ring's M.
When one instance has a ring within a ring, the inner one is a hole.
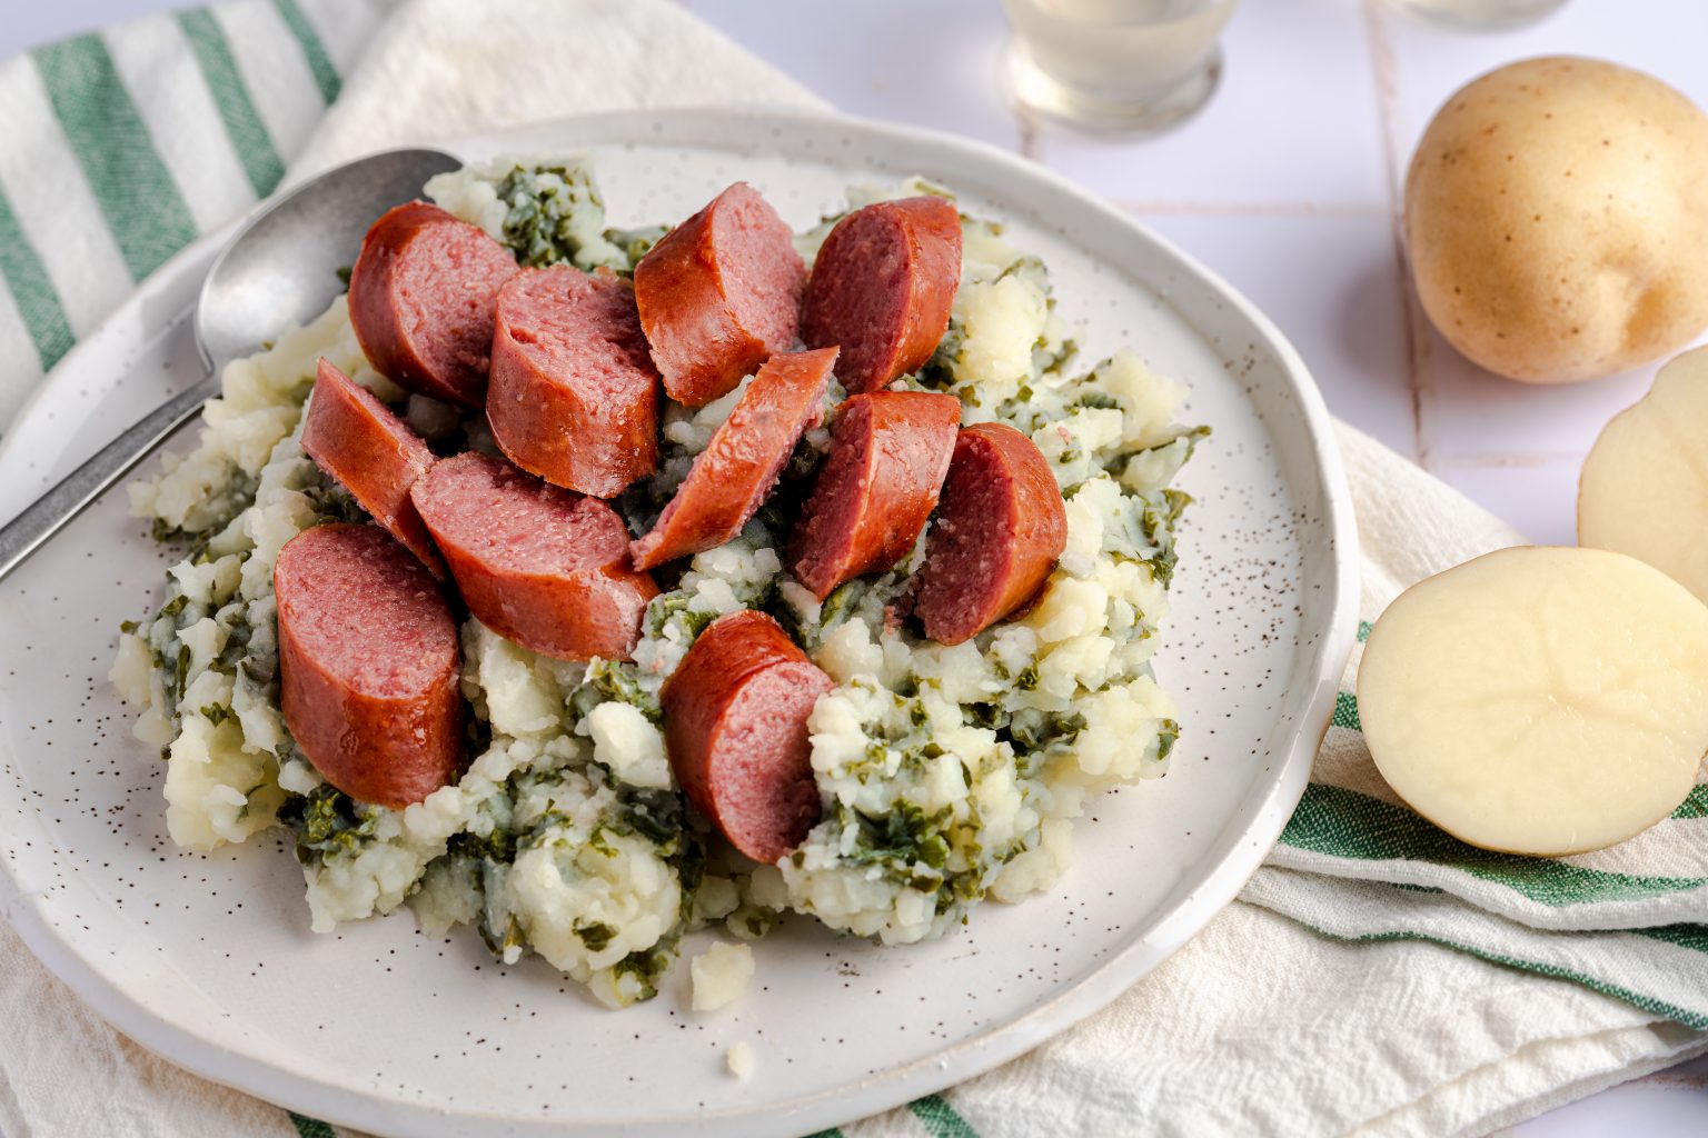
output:
M606 1012L540 961L407 913L309 933L284 841L167 841L162 768L106 684L118 623L169 556L109 495L0 584L0 903L29 947L161 1054L377 1133L801 1135L1021 1054L1098 1010L1226 904L1281 833L1353 638L1351 505L1305 365L1247 300L1061 177L989 147L752 111L581 118L453 145L589 147L611 222L680 218L734 179L804 227L854 181L924 174L1044 254L1090 358L1134 345L1192 386L1214 437L1185 469L1158 672L1185 734L1167 778L1098 800L1049 896L936 943L878 949L793 920L738 1005ZM157 273L67 358L0 450L0 517L196 377L188 307L219 237ZM352 251L354 253L354 251ZM699 938L687 947L699 950ZM724 1049L748 1041L738 1082Z

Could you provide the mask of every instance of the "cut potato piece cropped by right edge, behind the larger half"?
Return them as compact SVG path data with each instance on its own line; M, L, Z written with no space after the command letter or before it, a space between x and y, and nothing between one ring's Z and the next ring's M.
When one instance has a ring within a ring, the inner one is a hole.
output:
M1708 601L1708 348L1674 358L1602 428L1578 481L1578 544L1648 561Z

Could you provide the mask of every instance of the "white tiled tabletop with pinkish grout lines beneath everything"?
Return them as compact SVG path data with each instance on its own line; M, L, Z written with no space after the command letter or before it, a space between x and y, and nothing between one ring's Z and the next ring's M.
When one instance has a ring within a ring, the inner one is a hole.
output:
M1498 34L1390 15L1382 0L1247 0L1214 101L1172 135L1097 143L1023 131L1001 96L997 0L683 0L738 43L871 118L1021 148L1134 208L1247 292L1298 345L1329 408L1413 454L1537 541L1571 541L1576 466L1647 372L1535 391L1483 375L1407 329L1392 186L1459 85L1542 53L1612 58L1708 104L1708 0L1571 0ZM0 58L174 7L5 0ZM893 29L905 27L905 34ZM1418 338L1418 367L1409 363ZM1413 416L1413 387L1421 420ZM1524 1123L1515 1138L1708 1135L1708 1060Z

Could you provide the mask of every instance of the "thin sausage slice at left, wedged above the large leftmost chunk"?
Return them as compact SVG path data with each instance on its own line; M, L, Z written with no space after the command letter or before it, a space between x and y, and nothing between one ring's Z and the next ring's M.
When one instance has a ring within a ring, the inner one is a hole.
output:
M434 464L432 450L374 392L325 358L302 421L302 450L444 580L444 561L410 502L410 486Z

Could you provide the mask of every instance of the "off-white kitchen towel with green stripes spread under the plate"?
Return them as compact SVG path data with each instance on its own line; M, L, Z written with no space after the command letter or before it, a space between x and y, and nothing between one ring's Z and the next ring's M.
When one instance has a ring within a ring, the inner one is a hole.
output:
M574 111L736 101L816 106L659 0L241 0L0 61L0 430L137 282L280 177ZM1366 621L1518 539L1378 444L1341 442ZM1612 851L1471 850L1385 788L1349 671L1242 903L1079 1027L827 1133L1486 1135L1708 1049L1705 923L1708 792ZM3 925L0 1022L12 1138L348 1135L137 1048Z

